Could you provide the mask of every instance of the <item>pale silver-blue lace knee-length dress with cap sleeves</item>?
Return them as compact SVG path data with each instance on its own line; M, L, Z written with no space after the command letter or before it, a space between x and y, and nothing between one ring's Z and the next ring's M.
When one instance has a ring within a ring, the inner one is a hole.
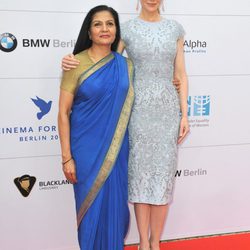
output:
M135 102L129 123L129 201L155 205L171 201L177 166L180 122L172 83L182 26L139 17L121 27L126 52L135 66Z

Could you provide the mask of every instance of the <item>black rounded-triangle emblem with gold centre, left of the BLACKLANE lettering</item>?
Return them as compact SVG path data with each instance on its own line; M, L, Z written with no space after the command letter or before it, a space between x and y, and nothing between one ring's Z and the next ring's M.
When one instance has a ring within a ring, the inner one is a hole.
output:
M29 196L33 186L35 185L35 182L36 177L27 174L14 179L16 187L24 197Z

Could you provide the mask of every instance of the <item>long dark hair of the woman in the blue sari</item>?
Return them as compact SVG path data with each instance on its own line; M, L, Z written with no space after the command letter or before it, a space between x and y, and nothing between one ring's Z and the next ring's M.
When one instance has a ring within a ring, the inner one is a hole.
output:
M91 22L93 20L94 15L100 11L108 11L114 18L115 26L116 26L116 36L115 36L115 41L111 45L111 50L112 51L117 50L118 43L121 38L121 30L120 30L118 13L111 7L108 7L106 5L99 5L91 9L89 13L87 14L87 16L85 17L80 33L78 35L77 41L76 41L75 48L73 50L74 55L92 46L92 41L89 39L88 32L90 30Z

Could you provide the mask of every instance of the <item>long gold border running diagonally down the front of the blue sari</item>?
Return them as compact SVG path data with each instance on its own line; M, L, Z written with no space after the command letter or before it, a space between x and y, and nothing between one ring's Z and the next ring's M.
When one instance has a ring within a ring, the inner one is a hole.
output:
M130 68L130 67L129 67ZM130 76L130 74L129 74ZM98 192L100 191L101 187L105 183L106 179L108 178L111 170L113 169L114 163L120 151L120 147L122 145L122 141L128 126L131 109L134 101L134 89L132 85L132 77L129 77L129 89L125 99L125 102L122 107L121 115L118 120L116 130L114 133L114 137L112 139L111 145L109 150L106 154L104 162L100 168L100 171L96 177L96 180L90 189L88 195L86 196L85 200L81 204L79 212L77 214L77 226L80 226L80 223L88 211L89 207L95 200Z

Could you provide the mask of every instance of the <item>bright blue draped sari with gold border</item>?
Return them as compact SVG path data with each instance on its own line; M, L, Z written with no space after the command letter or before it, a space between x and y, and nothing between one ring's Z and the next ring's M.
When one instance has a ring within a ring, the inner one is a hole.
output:
M82 52L83 53L83 52ZM90 59L86 51L82 55ZM129 225L128 131L133 104L131 61L112 52L82 67L70 115L71 153L81 250L121 250Z

